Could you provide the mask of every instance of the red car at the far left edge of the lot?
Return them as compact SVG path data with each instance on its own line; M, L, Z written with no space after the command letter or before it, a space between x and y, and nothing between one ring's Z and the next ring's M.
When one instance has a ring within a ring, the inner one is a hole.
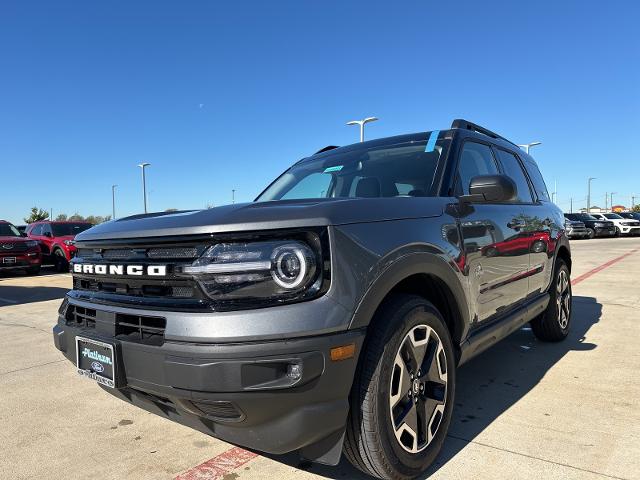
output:
M22 269L36 274L41 265L38 242L24 238L11 223L0 220L0 270Z

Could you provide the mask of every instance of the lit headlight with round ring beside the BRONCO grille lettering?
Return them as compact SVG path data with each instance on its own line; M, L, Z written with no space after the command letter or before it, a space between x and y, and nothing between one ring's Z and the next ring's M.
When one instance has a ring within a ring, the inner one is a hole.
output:
M194 278L220 310L292 303L328 288L328 245L321 235L307 232L218 243L176 273Z

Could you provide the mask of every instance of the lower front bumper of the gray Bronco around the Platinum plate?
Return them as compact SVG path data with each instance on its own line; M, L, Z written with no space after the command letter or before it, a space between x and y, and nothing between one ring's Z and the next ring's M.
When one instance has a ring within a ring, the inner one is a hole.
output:
M279 341L165 340L161 345L122 341L108 330L102 322L93 328L69 325L60 315L53 329L54 343L74 364L77 335L116 344L123 386L102 388L122 400L225 441L273 454L301 450L303 456L317 459L326 439L341 442L362 330ZM331 348L351 343L356 345L353 358L331 360ZM288 375L289 365L294 364L302 368L299 379Z

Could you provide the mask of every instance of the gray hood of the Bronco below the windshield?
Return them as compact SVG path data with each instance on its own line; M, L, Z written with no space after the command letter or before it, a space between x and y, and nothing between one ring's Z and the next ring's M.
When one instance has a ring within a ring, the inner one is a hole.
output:
M441 215L451 200L439 197L278 200L206 210L134 215L96 225L76 241L198 235L322 227Z

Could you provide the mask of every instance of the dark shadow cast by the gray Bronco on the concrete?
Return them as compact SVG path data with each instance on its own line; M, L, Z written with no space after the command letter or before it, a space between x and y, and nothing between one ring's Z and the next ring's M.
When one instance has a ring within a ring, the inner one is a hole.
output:
M592 325L600 321L602 305L593 297L573 298L571 331L559 343L538 341L524 328L460 367L456 382L456 406L448 438L438 459L421 478L428 478L455 457L496 418L532 390L564 355L597 348L585 342ZM293 456L275 457L299 469L332 479L370 480L342 458L337 467L300 463Z

